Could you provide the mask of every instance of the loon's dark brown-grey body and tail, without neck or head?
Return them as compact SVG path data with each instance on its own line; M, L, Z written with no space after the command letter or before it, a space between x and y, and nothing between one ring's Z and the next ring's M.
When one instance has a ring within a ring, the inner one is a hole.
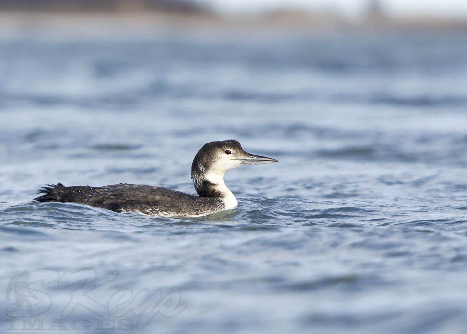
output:
M40 202L75 202L115 212L135 211L160 216L202 215L217 212L218 198L198 197L151 185L106 185L102 187L48 185L35 198ZM183 213L183 214L181 214Z

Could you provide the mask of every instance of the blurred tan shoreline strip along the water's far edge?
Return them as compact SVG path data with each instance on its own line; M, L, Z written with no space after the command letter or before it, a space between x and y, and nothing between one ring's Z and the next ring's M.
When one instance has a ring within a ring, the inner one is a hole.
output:
M0 11L0 37L151 37L175 34L251 36L271 33L347 33L398 31L467 32L467 20L432 17L394 18L370 13L349 19L335 13L308 13L278 10L262 14L221 15L210 11L196 13L148 12L34 12Z

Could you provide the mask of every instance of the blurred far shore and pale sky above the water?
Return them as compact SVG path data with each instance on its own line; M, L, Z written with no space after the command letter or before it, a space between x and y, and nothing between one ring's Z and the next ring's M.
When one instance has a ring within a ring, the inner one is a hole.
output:
M465 28L462 0L1 0L3 33ZM85 22L85 23L84 23ZM98 30L98 31L95 31Z

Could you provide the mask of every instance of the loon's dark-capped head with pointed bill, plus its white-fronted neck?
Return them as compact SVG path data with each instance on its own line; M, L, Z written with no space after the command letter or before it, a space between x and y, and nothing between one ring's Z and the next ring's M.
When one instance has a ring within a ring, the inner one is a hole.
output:
M193 159L191 178L199 196L226 198L226 196L233 196L224 184L226 171L237 168L241 164L275 162L277 162L276 159L245 152L236 140L208 142L199 149Z

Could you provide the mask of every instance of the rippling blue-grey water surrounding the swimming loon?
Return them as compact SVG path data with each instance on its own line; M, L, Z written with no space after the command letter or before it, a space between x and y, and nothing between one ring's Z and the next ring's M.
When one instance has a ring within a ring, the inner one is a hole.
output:
M50 302L39 319L65 333L465 333L465 34L230 37L1 40L2 289L30 270L50 298L34 312ZM57 182L194 193L194 155L226 139L279 160L226 174L231 212L32 200ZM67 272L118 275L66 314ZM173 298L98 314L122 289Z

